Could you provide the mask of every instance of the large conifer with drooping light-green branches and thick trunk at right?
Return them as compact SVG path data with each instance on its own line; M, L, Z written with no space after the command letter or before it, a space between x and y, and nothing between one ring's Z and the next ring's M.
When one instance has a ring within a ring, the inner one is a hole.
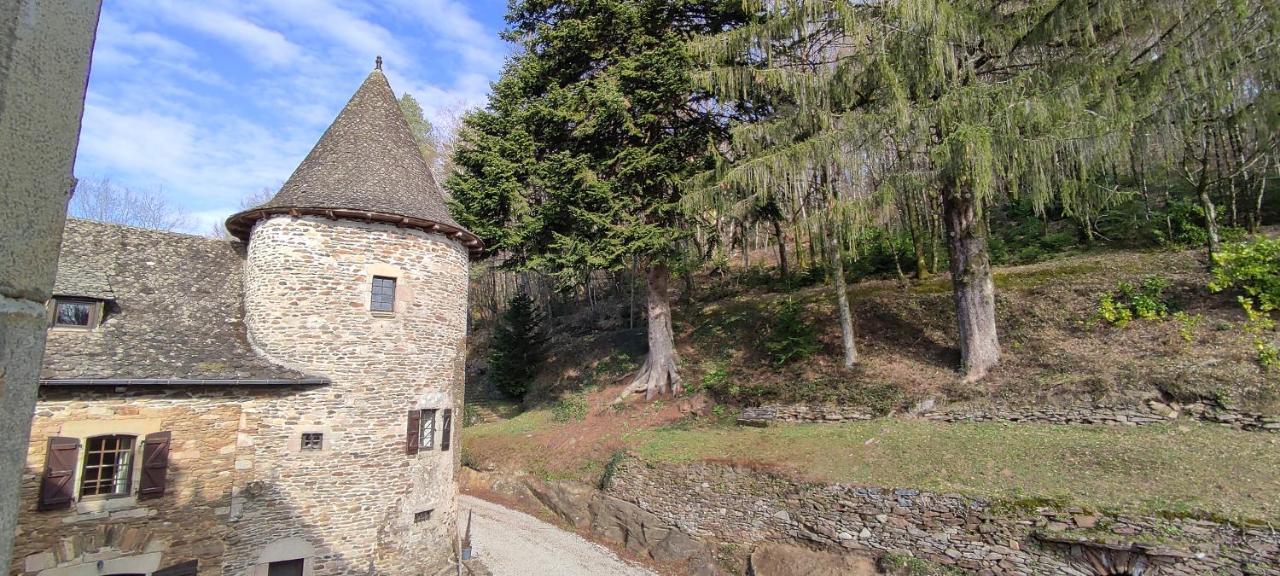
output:
M1151 154L1135 134L1190 124L1194 114L1176 115L1187 102L1224 109L1208 86L1234 86L1225 92L1247 124L1274 125L1270 1L749 4L755 22L698 44L705 86L769 102L736 131L737 157L717 177L763 193L817 175L855 192L859 210L928 201L913 207L943 224L970 380L1000 358L992 202L1056 201L1088 220L1108 201L1105 183L1133 164L1123 160ZM1274 133L1251 138L1271 150Z

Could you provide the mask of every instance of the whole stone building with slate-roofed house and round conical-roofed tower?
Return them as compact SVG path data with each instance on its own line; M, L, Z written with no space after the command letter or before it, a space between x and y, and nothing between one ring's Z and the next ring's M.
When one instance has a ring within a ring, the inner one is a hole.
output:
M12 575L434 575L467 266L374 70L237 241L68 223Z

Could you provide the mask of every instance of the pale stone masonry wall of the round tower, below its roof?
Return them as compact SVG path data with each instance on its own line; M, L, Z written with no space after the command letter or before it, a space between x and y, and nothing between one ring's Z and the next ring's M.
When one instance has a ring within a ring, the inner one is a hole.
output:
M461 430L467 253L420 230L320 218L259 223L246 265L252 344L333 384L247 419L227 575L273 541L314 548L308 573L407 575L452 561L457 449L406 454L410 410L453 408ZM374 275L397 279L393 314L370 311ZM321 431L319 452L296 449ZM415 521L415 515L426 513Z

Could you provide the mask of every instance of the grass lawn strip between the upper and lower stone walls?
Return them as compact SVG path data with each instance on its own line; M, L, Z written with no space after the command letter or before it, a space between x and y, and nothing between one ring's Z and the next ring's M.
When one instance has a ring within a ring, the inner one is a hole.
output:
M1133 428L941 424L906 419L783 425L561 424L548 411L468 428L471 456L590 477L612 451L649 462L732 461L797 477L1140 513L1280 521L1280 435L1194 422ZM604 430L608 428L608 430Z

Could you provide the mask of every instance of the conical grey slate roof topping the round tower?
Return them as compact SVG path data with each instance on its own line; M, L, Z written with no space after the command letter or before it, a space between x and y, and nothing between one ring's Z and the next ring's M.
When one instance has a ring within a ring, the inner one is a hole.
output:
M248 239L253 224L276 214L419 228L461 242L472 256L484 247L449 216L381 69L365 78L275 197L232 215L227 229Z

